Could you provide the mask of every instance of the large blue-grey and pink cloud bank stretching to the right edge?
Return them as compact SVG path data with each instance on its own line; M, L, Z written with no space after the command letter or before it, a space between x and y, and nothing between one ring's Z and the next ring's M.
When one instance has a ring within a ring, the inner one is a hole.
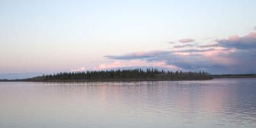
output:
M121 56L105 57L113 60L164 61L166 65L175 65L186 70L205 70L213 74L256 73L256 33L216 40L216 44L197 45L195 46L196 49L191 49L190 46L192 45L175 46L188 47L188 49L134 52ZM211 58L202 54L202 52L215 51L216 48L214 47L218 46L223 47L223 51L230 51L231 49L235 49L235 51L220 52ZM182 56L177 52L189 52L190 54ZM226 59L227 63L225 63ZM221 61L224 63L220 63Z

